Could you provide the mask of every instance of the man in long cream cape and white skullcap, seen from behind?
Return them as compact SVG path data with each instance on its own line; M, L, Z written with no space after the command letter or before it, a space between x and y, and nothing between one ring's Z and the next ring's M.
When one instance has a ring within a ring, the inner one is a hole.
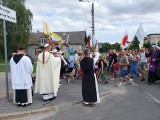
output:
M56 98L60 81L61 58L54 57L50 50L49 44L45 44L36 68L35 93L42 94L44 102Z

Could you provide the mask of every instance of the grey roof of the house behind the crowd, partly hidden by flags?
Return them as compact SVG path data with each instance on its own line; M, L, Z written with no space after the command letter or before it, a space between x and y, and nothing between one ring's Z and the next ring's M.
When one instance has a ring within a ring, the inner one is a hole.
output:
M66 40L69 34L69 44L81 44L85 45L86 31L72 31L72 32L54 32L62 37L62 40ZM29 36L30 44L37 44L40 42L40 38L45 38L43 32L31 33Z

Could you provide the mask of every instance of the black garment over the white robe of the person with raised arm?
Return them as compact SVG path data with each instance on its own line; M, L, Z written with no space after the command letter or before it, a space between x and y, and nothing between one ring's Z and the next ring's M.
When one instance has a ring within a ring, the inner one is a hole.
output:
M97 102L97 83L94 75L94 60L84 57L80 62L83 71L82 76L82 96L84 102Z

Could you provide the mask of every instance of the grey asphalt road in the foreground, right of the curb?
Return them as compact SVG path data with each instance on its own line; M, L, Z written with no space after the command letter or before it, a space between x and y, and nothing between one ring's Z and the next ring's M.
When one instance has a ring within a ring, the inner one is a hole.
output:
M115 88L116 81L111 81ZM95 107L81 103L16 120L160 120L160 84L150 86L146 81L135 81L112 90Z

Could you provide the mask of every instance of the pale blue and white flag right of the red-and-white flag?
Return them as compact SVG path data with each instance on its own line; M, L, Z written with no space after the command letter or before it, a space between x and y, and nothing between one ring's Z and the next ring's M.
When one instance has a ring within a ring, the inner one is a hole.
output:
M139 48L141 49L143 47L143 43L144 43L144 30L142 27L142 23L140 24L139 28L137 29L137 32L135 34L135 36L138 38L140 44L139 44Z

